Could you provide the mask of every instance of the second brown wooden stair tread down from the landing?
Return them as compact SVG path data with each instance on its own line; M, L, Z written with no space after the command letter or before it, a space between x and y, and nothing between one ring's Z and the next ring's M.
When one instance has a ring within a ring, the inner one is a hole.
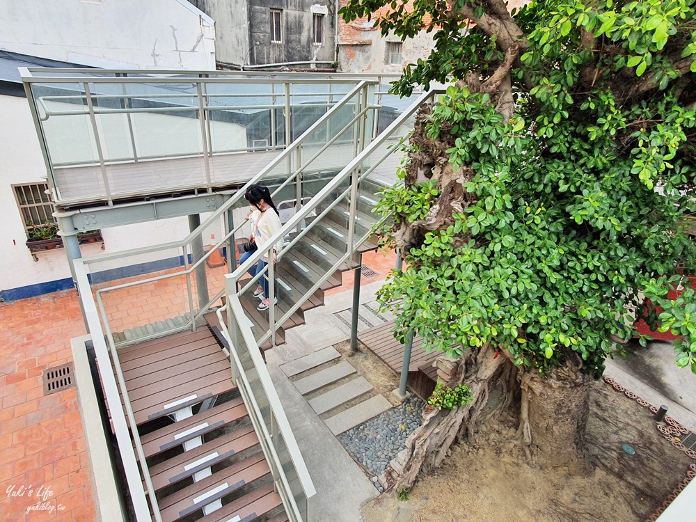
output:
M228 459L234 454L246 451L258 445L258 436L254 432L253 425L248 424L230 433L223 434L212 441L208 441L198 448L193 448L178 454L150 468L150 477L155 491L175 484L184 478L190 477L203 467L209 467L217 462ZM217 457L214 454L217 453ZM204 457L210 457L204 459ZM191 467L196 461L204 459L198 466ZM189 469L186 469L189 466Z

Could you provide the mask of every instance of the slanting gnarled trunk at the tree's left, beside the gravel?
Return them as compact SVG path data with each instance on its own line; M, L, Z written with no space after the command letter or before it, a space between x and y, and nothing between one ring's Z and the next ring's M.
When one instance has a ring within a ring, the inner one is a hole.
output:
M422 425L385 471L386 489L411 489L421 471L431 471L441 464L460 429L464 431L475 424L488 402L491 384L505 365L512 365L506 357L496 357L496 352L491 345L484 345L460 361L447 385L453 388L464 383L473 400L450 411L426 407Z

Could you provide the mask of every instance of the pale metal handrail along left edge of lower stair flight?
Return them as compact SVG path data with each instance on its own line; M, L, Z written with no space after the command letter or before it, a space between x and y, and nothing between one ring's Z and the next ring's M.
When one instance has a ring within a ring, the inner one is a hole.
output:
M102 324L100 322L100 315L97 312L95 301L91 296L92 292L90 292L90 282L87 277L85 264L82 260L76 259L73 260L73 266L75 283L79 295L81 296L86 326L92 338L97 364L100 367L104 395L106 397L106 403L109 405L111 421L113 422L113 429L116 434L116 443L118 444L118 451L126 475L126 482L128 484L136 519L138 522L152 521L148 500L146 498L149 497L150 505L152 505L152 516L155 517L156 522L162 522L159 503L157 503L157 496L155 495L155 487L152 485L150 469L143 450L138 425L135 421L130 398L128 396L128 390L125 386L125 379L123 378L120 361L118 361L117 351L113 345L113 337L110 331L106 332L106 338L108 338L109 345L111 345L111 348L109 348L106 345L104 331L102 330ZM109 356L109 352L111 352L111 357ZM114 378L112 372L106 371L107 368L111 368L112 358L116 366L116 378ZM123 399L122 403L119 389ZM125 406L125 414L123 406ZM131 443L131 436L135 443L135 450ZM136 453L138 454L138 459L136 459ZM138 466L139 462L141 467L140 470ZM145 485L147 486L147 491L143 489L141 471L143 480L145 480Z

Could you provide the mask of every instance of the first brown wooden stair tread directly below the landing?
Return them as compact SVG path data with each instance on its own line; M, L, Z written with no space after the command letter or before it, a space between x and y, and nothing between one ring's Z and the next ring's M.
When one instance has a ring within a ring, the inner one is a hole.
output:
M244 406L242 398L237 397L224 404L214 406L207 411L196 413L192 417L157 429L154 432L141 436L145 457L151 457L159 452L166 451L187 440L182 437L175 438L175 436L193 427L200 425L202 426L201 429L212 431L212 429L217 429L217 427L226 425L228 422L239 420L246 415L246 406ZM203 426L206 423L207 426Z

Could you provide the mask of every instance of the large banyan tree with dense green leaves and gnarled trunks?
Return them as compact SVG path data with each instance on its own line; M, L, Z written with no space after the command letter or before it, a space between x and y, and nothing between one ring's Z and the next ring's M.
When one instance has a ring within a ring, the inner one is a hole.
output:
M519 404L519 443L535 463L587 469L590 381L644 310L685 335L677 364L696 371L693 292L685 283L667 299L695 259L694 1L343 8L350 20L386 6L383 33L434 32L395 92L450 84L420 109L404 184L380 203L393 216L383 241L407 266L380 299L397 303L397 338L415 331L459 361L448 386L466 384L473 400L427 413L390 470L397 487L471 432L493 388Z

